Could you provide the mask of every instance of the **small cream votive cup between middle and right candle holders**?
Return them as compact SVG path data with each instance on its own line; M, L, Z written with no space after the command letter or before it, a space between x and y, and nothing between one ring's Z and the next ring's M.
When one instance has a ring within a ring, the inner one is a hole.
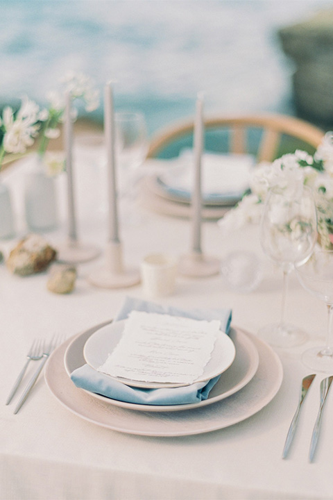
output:
M165 297L173 294L177 267L178 260L164 253L146 256L141 264L144 294L148 297Z

